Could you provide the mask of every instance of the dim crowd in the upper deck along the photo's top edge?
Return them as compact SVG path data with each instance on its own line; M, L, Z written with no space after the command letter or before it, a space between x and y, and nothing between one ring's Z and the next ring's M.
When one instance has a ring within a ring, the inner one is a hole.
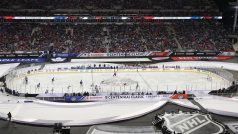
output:
M2 0L1 8L21 7L25 9L152 9L159 6L162 9L205 9L208 5L215 6L207 0Z

